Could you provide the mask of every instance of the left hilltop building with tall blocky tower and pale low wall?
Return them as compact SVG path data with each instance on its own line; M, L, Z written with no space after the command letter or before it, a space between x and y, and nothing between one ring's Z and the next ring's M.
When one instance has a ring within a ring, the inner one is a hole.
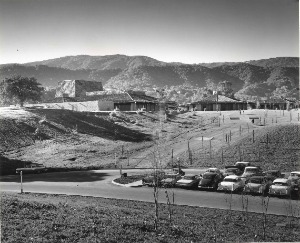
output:
M143 91L103 90L101 82L64 80L58 83L55 99L46 104L48 108L74 111L158 111L158 100Z

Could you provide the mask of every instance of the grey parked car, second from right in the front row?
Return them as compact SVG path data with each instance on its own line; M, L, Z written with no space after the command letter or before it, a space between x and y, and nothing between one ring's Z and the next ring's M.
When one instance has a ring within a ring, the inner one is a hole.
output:
M272 181L264 176L252 176L244 186L244 193L263 194L269 191Z

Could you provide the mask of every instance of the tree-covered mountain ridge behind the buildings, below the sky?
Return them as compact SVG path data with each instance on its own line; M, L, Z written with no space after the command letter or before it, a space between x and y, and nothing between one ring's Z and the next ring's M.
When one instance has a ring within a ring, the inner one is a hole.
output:
M166 63L146 56L67 56L26 64L0 65L0 78L22 75L37 78L43 86L65 79L101 81L106 88L152 89L207 82L230 81L235 92L265 96L276 88L299 87L299 58L276 57L248 62L202 64ZM297 93L297 92L296 92ZM299 92L298 92L299 93Z

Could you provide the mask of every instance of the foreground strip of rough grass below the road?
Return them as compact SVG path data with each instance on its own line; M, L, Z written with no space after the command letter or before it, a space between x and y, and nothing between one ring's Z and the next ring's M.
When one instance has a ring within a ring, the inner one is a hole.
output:
M1 193L1 242L299 242L299 219L138 201ZM264 217L265 216L265 217ZM299 216L299 215L298 215ZM265 227L264 227L265 223Z

